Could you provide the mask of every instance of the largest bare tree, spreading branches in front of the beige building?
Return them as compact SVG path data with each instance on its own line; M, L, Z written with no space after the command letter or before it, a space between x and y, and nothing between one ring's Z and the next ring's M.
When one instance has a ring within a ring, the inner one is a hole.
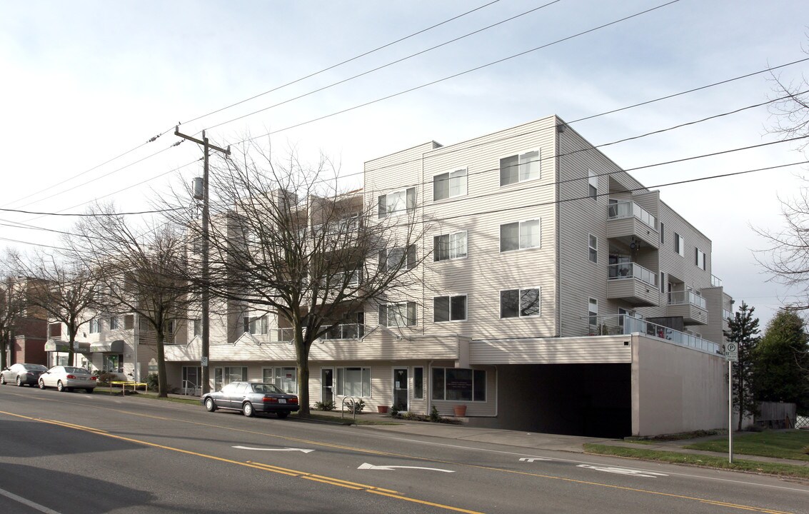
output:
M414 221L412 195L379 205L362 191L338 190L333 172L328 159L308 167L291 155L278 164L255 146L220 161L210 174L210 280L192 274L218 299L269 312L287 327L304 415L312 343L346 320L358 325L368 306L415 298L411 270L426 257L415 252L425 227ZM193 203L180 195L173 202ZM201 238L196 210L176 222ZM386 311L388 325L398 330L406 311Z

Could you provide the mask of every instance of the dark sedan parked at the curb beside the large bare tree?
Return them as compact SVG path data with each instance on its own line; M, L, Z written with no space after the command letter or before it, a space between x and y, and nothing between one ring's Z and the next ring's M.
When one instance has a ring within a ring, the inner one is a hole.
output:
M209 412L217 409L241 410L245 416L274 412L286 418L299 409L298 397L284 393L274 384L259 382L231 382L216 393L205 393L202 405Z

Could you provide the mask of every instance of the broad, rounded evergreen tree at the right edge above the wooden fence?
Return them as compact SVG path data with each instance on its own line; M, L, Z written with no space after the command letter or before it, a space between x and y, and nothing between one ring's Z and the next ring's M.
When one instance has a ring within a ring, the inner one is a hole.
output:
M791 311L778 312L767 324L753 352L756 400L796 403L802 412L809 407L809 335L804 325Z

